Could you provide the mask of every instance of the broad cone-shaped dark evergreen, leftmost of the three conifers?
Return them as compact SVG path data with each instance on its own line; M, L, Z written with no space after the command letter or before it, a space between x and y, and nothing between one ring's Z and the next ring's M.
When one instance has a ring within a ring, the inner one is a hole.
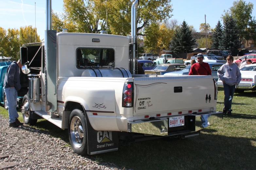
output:
M190 52L194 43L195 40L192 37L191 29L188 24L183 21L181 27L175 31L170 50L173 52Z

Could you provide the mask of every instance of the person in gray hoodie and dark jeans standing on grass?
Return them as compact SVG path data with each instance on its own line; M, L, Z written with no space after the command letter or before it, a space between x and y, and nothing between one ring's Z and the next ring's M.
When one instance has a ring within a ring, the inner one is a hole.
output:
M235 92L235 86L241 81L241 73L238 66L233 63L232 56L227 57L227 63L223 64L217 71L219 79L223 82L224 88L224 108L223 114L231 115L232 99Z

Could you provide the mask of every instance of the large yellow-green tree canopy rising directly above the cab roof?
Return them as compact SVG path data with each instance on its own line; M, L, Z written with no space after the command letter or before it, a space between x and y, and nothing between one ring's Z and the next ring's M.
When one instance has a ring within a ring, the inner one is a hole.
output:
M108 29L108 34L129 35L131 27L131 6L133 0L64 0L64 14L61 16L69 32L98 33ZM143 34L145 26L170 18L171 0L141 0L137 7L137 32ZM108 12L108 25L106 25ZM57 16L60 18L59 16ZM57 26L55 26L57 25ZM61 26L59 19L53 27ZM72 27L74 31L70 31ZM108 28L107 28L108 27Z

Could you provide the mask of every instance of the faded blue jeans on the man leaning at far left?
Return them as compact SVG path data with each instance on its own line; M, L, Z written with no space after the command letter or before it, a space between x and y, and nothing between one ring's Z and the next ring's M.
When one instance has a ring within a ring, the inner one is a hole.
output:
M15 122L15 119L19 117L18 112L16 110L17 108L17 97L18 92L15 90L15 88L4 88L6 99L7 99L7 105L8 105L8 114L9 114L9 123Z

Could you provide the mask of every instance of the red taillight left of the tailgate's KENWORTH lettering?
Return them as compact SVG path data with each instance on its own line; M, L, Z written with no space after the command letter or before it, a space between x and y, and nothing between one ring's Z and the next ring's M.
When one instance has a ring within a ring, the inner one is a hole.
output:
M125 82L123 89L123 107L133 106L133 83Z

